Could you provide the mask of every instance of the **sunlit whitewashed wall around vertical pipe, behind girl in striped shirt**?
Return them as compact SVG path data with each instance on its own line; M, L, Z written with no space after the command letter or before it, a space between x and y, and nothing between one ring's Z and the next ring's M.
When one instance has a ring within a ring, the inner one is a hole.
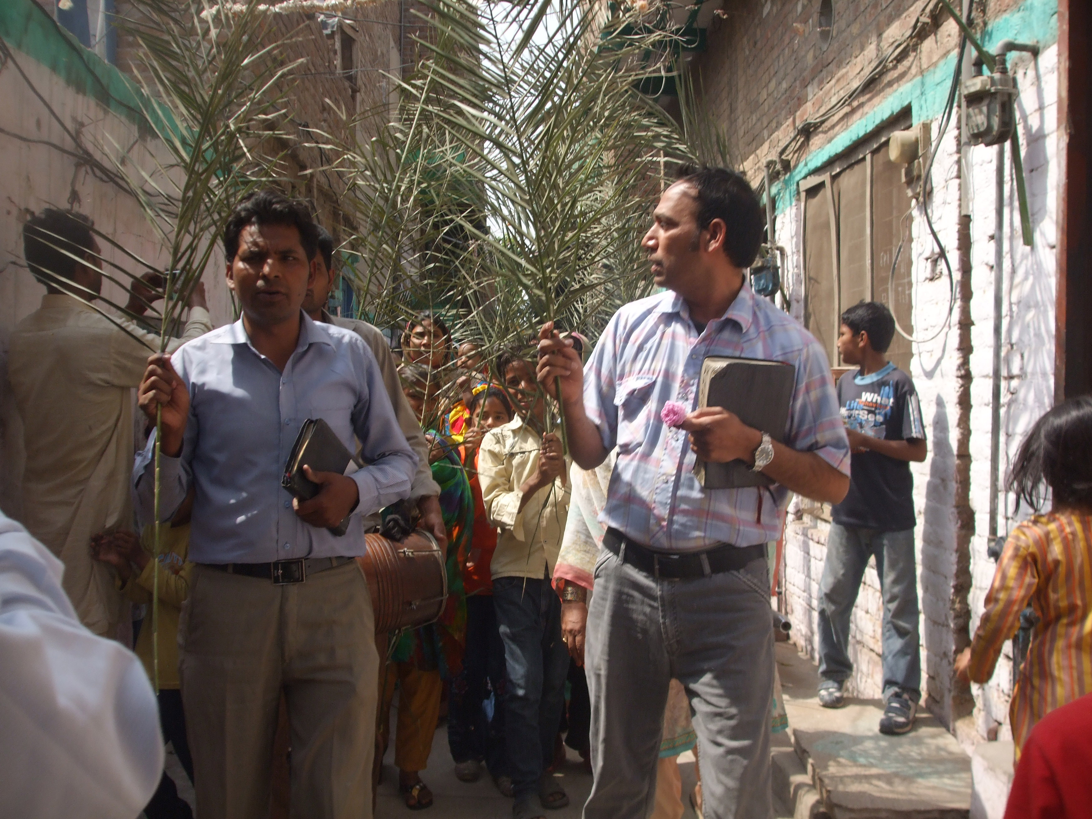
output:
M1023 147L1034 246L1021 241L1011 157L1006 155L1005 186L1005 316L1001 382L1001 470L1007 471L1024 434L1054 403L1054 337L1057 244L1057 69L1058 49L1051 46L1036 60L1011 55L1010 67L1020 87L1018 122ZM971 314L974 373L971 411L971 503L975 510L972 542L972 629L982 614L986 590L994 577L994 561L986 556L989 531L989 429L990 375L993 372L994 319L994 207L996 149L971 152L970 177L975 195L972 222L974 297ZM1016 515L1014 498L1002 497L1006 518L998 531L1006 534L1026 518ZM1006 650L994 679L975 686L975 717L980 733L1000 725L1001 738L1010 736L1008 703L1011 697L1011 658Z

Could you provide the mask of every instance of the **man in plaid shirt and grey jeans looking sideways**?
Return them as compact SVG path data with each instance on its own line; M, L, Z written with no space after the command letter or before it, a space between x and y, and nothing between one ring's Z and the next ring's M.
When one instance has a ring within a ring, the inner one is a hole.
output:
M666 292L621 308L586 371L551 325L539 342L538 378L550 394L560 379L573 460L591 470L618 449L591 612L582 590L562 594L567 640L587 622L595 782L584 819L642 819L652 809L673 677L695 712L705 816L768 819L765 544L780 535L791 491L832 503L845 496L850 446L826 353L747 284L763 219L746 180L723 168L684 168L653 217L642 244ZM710 355L796 368L784 443L725 410L693 410ZM678 428L661 418L667 401L691 411ZM704 489L696 458L740 459L776 484Z

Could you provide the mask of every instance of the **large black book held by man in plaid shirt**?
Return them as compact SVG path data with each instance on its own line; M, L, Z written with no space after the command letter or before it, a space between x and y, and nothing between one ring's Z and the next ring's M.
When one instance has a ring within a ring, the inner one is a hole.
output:
M720 406L739 416L748 427L761 429L782 442L796 387L796 367L760 358L707 356L701 365L698 407ZM752 472L736 459L728 463L698 461L695 475L707 489L773 486L773 478Z

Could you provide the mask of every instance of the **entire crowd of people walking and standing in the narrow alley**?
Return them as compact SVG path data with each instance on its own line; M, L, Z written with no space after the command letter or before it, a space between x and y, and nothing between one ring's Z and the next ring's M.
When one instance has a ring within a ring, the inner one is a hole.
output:
M690 749L705 817L769 819L770 735L785 720L769 546L791 492L833 505L819 703L845 702L850 615L874 557L879 729L911 731L909 464L926 456L914 385L887 361L894 321L876 302L842 316L840 355L857 369L835 384L815 339L747 284L762 235L741 176L685 168L642 240L662 292L621 308L594 349L547 323L487 355L436 311L410 317L392 349L376 327L330 313L334 237L304 203L260 191L224 227L239 320L213 329L199 286L179 336L150 357L149 328L88 304L102 288L90 221L29 219L25 256L47 295L10 347L25 530L0 520L0 640L5 665L13 640L23 652L16 693L35 703L21 736L49 748L0 781L35 765L68 772L63 786L21 791L16 812L79 803L87 816L192 816L163 770L169 741L202 819L371 816L397 692L394 764L411 809L434 805L422 773L446 716L456 776L487 774L513 819L569 804L553 775L566 747L593 776L585 819L679 819L676 761ZM134 313L149 297L134 284ZM709 356L791 364L786 428L698 408ZM364 465L308 467L320 490L301 500L282 475L313 418ZM1009 538L957 667L988 679L1020 612L1035 608L1012 726L1018 752L1036 749L1038 772L1024 774L1036 781L1057 746L1033 727L1085 702L1092 679L1090 449L1092 399L1029 435L1014 485L1036 509L1049 486L1054 509ZM699 461L740 461L769 480L705 488ZM399 515L439 544L448 596L435 621L377 633L377 590L356 558L365 534L389 534ZM76 696L72 675L94 685ZM102 733L100 753L87 731ZM1052 798L1072 800L1075 787L1059 782Z

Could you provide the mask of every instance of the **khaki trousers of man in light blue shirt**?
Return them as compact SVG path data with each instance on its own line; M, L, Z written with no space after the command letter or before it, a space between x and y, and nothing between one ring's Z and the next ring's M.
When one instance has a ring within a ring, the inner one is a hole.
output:
M290 585L194 567L178 641L201 819L265 817L282 691L290 816L370 819L375 631L356 561Z

